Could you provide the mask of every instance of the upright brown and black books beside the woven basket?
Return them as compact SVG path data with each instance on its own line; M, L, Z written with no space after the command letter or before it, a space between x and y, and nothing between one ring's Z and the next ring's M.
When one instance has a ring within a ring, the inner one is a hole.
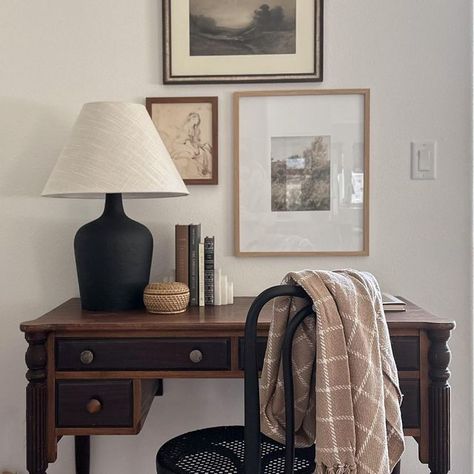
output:
M201 238L201 224L176 225L176 281L189 287L191 306L214 305L214 237Z

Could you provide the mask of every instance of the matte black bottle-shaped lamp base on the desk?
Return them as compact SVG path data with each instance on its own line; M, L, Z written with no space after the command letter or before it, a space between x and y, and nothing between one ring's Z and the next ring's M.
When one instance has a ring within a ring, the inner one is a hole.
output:
M153 237L144 225L125 215L121 194L107 194L102 216L77 231L74 253L83 309L143 307Z

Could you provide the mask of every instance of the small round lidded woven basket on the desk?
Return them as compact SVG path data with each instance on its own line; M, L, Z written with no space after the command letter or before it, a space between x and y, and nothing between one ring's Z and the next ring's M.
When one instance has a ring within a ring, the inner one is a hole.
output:
M143 292L149 313L183 313L189 304L189 288L184 283L150 283Z

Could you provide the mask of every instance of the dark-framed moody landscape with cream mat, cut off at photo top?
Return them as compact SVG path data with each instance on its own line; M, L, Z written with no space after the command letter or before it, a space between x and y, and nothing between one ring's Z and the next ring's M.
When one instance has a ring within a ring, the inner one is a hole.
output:
M323 0L163 0L163 82L323 79Z

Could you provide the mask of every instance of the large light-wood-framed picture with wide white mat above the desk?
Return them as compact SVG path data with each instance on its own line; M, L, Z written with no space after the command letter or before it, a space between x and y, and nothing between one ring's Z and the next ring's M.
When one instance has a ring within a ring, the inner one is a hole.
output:
M367 89L234 93L235 254L369 254Z

